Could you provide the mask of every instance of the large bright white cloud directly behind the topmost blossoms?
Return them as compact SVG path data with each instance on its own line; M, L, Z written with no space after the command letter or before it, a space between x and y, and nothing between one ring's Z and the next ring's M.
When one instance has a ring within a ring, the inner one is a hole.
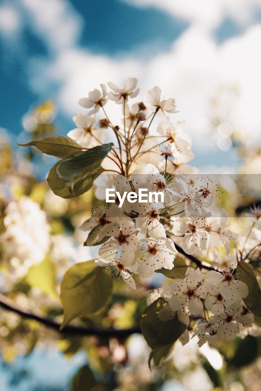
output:
M82 111L78 99L100 83L122 84L127 77L135 76L143 91L157 84L166 98L176 98L180 113L171 118L186 120L194 148L202 150L205 146L210 150L215 144L209 136L201 134L201 124L206 121L209 100L222 85L238 86L240 95L234 116L238 122L248 124L253 135L259 133L261 58L257 48L260 40L261 25L251 27L242 36L222 45L217 45L205 29L192 25L169 52L146 62L131 56L109 59L76 48L63 50L45 69L42 79L61 83L58 102L68 115ZM116 118L116 111L112 115Z

